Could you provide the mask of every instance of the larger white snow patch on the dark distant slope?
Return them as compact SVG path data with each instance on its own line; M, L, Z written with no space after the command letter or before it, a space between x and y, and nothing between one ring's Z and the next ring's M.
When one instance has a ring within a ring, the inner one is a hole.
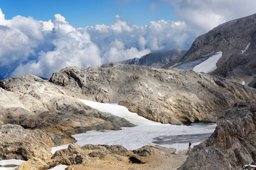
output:
M210 73L217 68L216 63L218 59L220 59L221 57L222 57L222 52L217 52L216 54L209 57L204 62L201 62L199 65L193 67L193 71Z

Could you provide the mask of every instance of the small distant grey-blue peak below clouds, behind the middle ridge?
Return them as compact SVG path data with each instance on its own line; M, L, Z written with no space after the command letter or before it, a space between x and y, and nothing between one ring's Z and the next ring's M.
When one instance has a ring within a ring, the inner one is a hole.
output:
M166 52L149 53L145 56L142 56L141 58L131 58L118 63L125 65L139 65L161 68L172 60L182 57L186 52L186 50L173 49Z

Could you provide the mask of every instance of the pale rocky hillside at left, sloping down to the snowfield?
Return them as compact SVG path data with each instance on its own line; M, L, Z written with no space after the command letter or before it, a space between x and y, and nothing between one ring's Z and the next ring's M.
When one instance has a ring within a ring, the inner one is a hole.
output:
M73 134L134 126L97 111L37 76L0 81L0 159L47 159L50 148L76 142Z

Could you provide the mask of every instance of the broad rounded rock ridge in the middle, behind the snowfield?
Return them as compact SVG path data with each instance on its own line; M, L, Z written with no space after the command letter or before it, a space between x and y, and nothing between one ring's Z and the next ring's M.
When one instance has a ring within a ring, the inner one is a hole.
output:
M118 103L149 120L170 124L214 122L234 103L256 96L255 89L218 76L118 63L88 69L67 67L49 81L69 95Z

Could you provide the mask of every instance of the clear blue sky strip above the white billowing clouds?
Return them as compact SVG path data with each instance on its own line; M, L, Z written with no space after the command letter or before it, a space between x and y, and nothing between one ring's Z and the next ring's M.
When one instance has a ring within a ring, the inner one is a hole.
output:
M130 24L139 26L147 25L151 20L176 20L171 13L171 6L157 5L156 10L156 7L153 7L156 2L148 0L1 0L0 7L6 19L22 15L46 21L53 19L55 14L61 14L76 28L94 27L97 24L110 25L114 23L115 15L126 19Z

